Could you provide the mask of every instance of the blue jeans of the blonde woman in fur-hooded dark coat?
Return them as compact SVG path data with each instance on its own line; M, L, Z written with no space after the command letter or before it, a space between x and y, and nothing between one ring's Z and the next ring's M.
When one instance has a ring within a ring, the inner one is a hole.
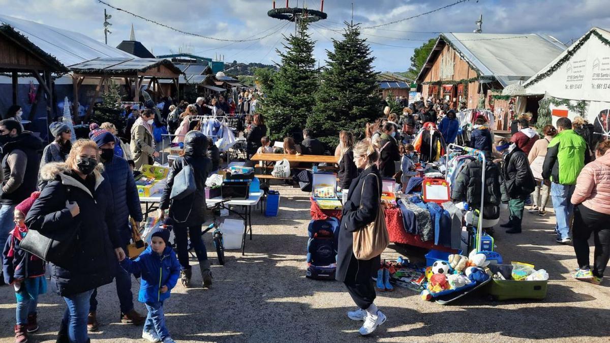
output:
M67 329L70 342L85 343L87 334L87 316L89 314L89 298L93 290L63 297L66 301L66 311L63 312L62 329Z

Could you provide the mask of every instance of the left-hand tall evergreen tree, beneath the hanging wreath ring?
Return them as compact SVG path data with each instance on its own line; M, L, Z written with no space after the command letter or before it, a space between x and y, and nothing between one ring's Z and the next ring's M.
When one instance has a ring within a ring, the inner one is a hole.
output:
M318 73L315 70L314 44L302 23L296 35L285 37L285 52L276 50L282 59L273 75L273 87L261 99L261 112L267 121L272 140L281 140L301 131L312 113Z

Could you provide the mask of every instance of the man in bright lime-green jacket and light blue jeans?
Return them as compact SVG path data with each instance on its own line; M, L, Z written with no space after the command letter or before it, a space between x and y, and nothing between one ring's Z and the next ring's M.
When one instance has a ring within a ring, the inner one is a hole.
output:
M557 120L557 132L548 144L547 156L542 167L542 178L545 184L551 185L551 198L557 224L557 242L567 244L570 239L570 217L573 206L570 203L576 178L584 165L590 161L587 143L583 137L572 130L572 121L568 118Z

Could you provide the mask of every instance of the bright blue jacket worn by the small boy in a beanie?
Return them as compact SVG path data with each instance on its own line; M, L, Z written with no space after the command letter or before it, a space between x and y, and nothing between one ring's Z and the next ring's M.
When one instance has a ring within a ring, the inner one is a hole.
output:
M142 303L157 303L169 298L180 275L180 264L171 247L165 247L159 255L149 246L134 261L129 258L121 261L121 267L128 273L141 273L138 301ZM167 286L167 292L161 293L162 286Z

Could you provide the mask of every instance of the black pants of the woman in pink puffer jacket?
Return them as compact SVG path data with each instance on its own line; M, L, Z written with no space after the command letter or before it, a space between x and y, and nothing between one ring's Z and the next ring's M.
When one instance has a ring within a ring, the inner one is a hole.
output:
M575 208L572 226L574 251L580 269L590 269L588 240L591 234L595 243L595 265L592 272L601 277L610 259L610 215L580 204Z

